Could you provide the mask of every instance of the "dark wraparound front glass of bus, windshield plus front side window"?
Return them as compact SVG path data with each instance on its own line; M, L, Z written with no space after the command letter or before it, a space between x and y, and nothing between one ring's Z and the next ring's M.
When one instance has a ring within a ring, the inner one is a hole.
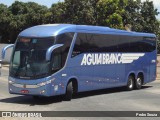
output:
M38 79L54 74L64 67L74 33L63 33L49 38L17 39L11 58L10 76ZM63 44L46 61L46 52L54 44Z

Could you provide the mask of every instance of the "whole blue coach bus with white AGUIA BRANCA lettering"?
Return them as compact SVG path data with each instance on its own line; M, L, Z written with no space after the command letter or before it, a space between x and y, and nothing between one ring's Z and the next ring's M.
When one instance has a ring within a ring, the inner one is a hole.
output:
M156 36L100 26L48 24L22 31L13 47L9 92L36 96L126 86L156 79Z

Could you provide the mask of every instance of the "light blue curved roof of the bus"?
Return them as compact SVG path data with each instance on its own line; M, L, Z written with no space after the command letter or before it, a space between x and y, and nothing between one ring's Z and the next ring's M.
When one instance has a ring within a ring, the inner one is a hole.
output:
M101 33L101 34L156 37L155 34L150 34L150 33L129 32L126 30L113 29L109 27L73 25L73 24L37 25L25 29L19 34L19 37L51 37L65 32L83 32L83 33Z

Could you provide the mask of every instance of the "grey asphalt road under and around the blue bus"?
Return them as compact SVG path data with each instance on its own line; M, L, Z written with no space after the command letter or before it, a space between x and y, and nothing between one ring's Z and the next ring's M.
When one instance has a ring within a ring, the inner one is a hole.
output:
M98 90L80 93L74 96L71 101L63 101L61 96L34 100L30 96L11 95L8 93L7 77L8 68L4 67L0 77L0 111L160 111L160 80L144 85L141 90L125 91L124 88ZM1 119L6 120L6 118ZM128 120L135 118L116 119ZM150 120L151 118L138 119ZM155 119L158 120L159 118Z

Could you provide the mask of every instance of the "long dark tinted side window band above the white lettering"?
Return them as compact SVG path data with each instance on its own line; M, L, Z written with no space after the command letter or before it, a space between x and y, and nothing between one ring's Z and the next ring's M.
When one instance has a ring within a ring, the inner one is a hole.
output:
M155 38L78 33L72 57L87 52L152 52Z

